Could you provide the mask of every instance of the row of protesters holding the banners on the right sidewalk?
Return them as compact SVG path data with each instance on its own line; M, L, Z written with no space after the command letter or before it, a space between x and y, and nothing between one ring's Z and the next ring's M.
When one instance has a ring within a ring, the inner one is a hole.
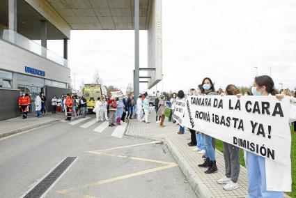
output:
M205 77L201 84L197 86L197 89L190 89L189 95L235 95L240 98L242 93L240 89L238 89L237 86L233 84L226 86L225 90L216 90L212 80L209 77ZM255 97L270 96L276 97L278 100L288 97L290 98L290 103L296 105L296 90L290 91L288 89L283 89L281 91L276 91L276 89L274 89L274 82L272 78L267 75L255 77L254 85L251 87L251 90L244 91L244 95ZM178 91L178 94L172 94L170 100L171 114L169 116L169 121L173 121L173 112L176 108L176 99L185 100L185 94L182 90ZM157 114L156 120L159 121L159 114ZM296 131L296 122L293 124L294 130ZM195 131L192 129L189 129L189 131L191 133L191 142L188 143L188 146L194 146L195 148L192 150L198 152L203 158L205 158L203 164L198 165L198 167L207 168L205 169L205 174L213 174L217 172L218 167L215 156L216 139L214 137L210 137L209 135L203 134L202 131ZM182 135L184 132L185 127L180 125L178 134ZM239 188L237 181L240 175L240 148L223 142L223 151L225 176L219 178L217 183L222 184L222 188L224 188L224 190L235 190ZM249 185L247 197L283 197L283 192L270 191L266 188L265 158L248 151L245 152L244 156L247 165Z

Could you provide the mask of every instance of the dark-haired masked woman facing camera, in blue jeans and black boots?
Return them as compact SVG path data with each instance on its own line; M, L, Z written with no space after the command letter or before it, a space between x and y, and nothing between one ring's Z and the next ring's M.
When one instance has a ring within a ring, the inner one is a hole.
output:
M214 84L212 84L212 80L209 77L205 77L201 84L203 85L201 93L205 95L217 95ZM208 170L205 171L205 174L218 172L215 157L216 139L210 137L210 135L203 134L203 144L205 144L205 162L203 162L201 165L198 165L198 167L208 167Z

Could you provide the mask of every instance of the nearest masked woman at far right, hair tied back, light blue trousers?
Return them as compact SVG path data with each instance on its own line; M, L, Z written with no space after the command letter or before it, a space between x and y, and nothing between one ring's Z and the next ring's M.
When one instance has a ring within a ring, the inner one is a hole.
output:
M274 82L272 78L267 75L255 77L254 86L251 88L251 92L253 96L275 96L276 91L274 90ZM282 97L283 96L276 96L278 99L281 99ZM296 112L294 112L294 114L296 114ZM281 190L286 189L283 187L283 183L287 183L288 185L291 181L271 179L276 178L276 174L282 178L288 177L285 176L286 172L282 169L283 165L279 162L272 162L272 164L270 164L270 161L249 151L246 151L246 165L249 184L247 198L283 197L283 192ZM278 173L276 173L277 171ZM272 172L272 174L267 174L267 172ZM268 181L267 176L269 176ZM269 187L267 187L267 184ZM272 188L272 190L267 190L267 188Z

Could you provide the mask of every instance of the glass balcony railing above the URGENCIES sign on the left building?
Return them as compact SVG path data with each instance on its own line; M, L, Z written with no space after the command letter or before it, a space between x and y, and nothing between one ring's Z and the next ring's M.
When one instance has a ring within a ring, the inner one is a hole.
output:
M17 33L10 29L6 29L3 26L0 26L0 39L6 40L9 43L13 43L26 50L29 50L30 52L33 52L34 54L38 54L39 56L54 61L61 66L68 67L67 59L63 59L63 57L47 50L45 47L42 47L38 43L33 42L33 40L22 36L20 33Z

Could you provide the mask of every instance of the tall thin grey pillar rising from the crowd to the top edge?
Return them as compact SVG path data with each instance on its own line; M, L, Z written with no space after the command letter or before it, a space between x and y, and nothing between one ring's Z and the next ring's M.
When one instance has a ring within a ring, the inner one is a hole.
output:
M139 0L134 0L134 97L139 95Z

